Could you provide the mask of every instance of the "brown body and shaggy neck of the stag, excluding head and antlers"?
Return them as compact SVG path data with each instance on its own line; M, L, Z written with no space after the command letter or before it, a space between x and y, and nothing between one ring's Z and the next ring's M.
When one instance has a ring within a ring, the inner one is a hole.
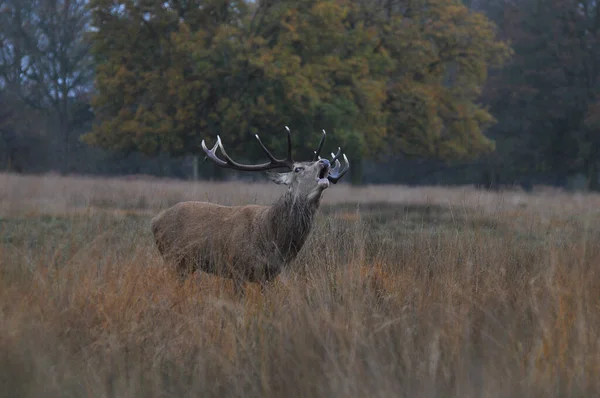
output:
M297 202L290 194L272 206L181 202L152 220L152 232L181 277L201 270L264 284L296 258L319 202Z

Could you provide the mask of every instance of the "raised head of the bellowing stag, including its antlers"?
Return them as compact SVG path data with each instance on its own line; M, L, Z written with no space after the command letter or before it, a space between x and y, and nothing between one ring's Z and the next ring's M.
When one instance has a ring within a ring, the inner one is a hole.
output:
M231 159L223 144L221 138L217 136L217 143L212 149L208 149L204 140L202 140L202 149L206 153L206 157L212 160L214 163L221 167L242 170L242 171L266 171L276 168L285 168L287 172L267 172L268 177L277 184L284 184L288 186L288 192L297 198L307 198L309 201L317 201L320 199L321 194L325 189L329 187L329 183L336 184L346 174L350 168L350 162L346 155L343 155L344 166L342 167L339 157L341 154L341 148L338 147L337 154L331 154L331 160L322 159L319 155L325 142L325 130L321 136L321 141L317 150L314 151L314 155L311 161L296 162L292 158L292 134L290 129L286 126L287 130L287 149L288 154L285 159L277 159L273 154L264 146L258 134L255 135L256 140L261 146L264 153L269 158L269 162L245 165L240 164ZM223 159L219 158L216 154L217 148L221 150Z

